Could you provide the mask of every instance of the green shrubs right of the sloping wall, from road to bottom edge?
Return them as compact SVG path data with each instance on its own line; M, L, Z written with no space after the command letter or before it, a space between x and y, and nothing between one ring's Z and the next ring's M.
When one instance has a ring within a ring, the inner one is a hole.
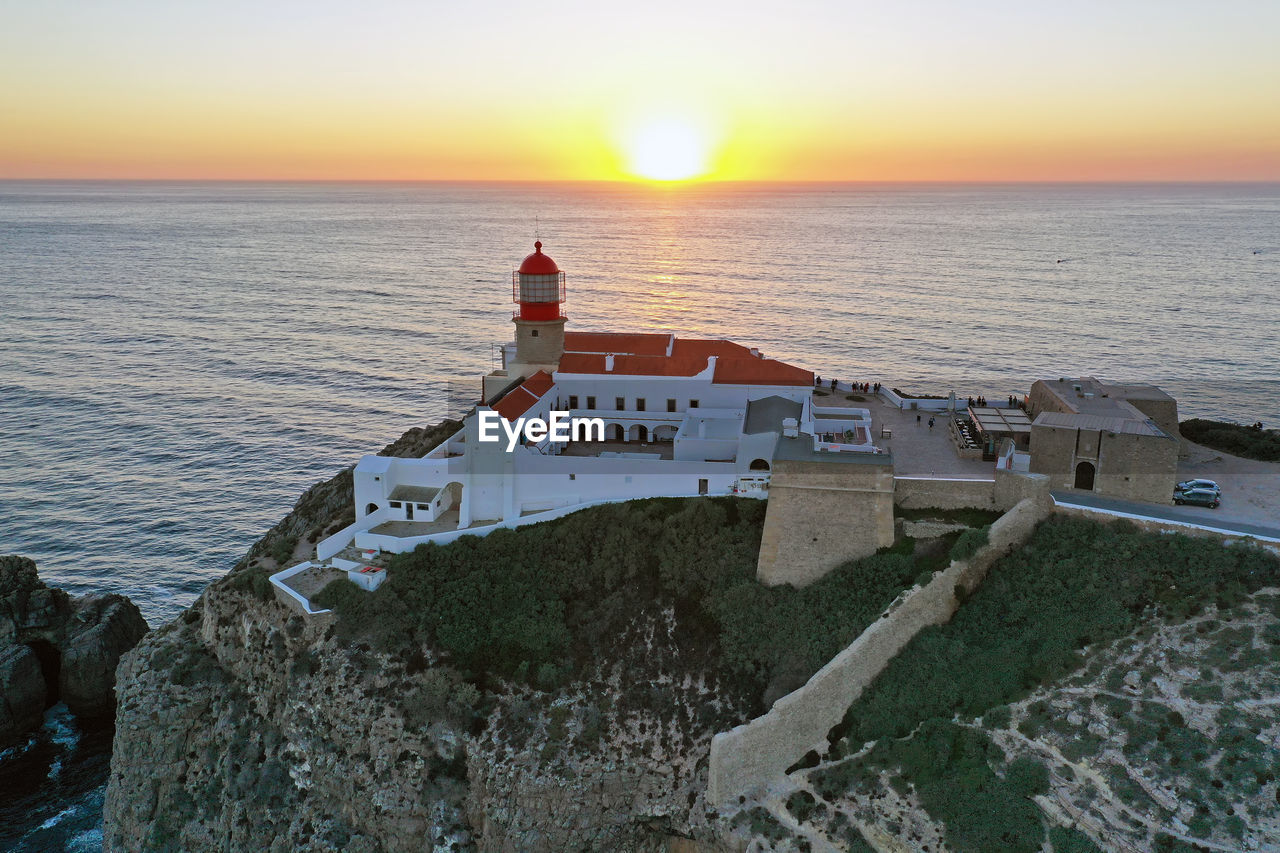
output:
M1043 767L1006 766L1004 751L960 720L1062 679L1085 647L1144 621L1229 607L1277 581L1280 561L1260 549L1053 517L991 569L952 621L920 631L872 683L832 749L856 757L815 771L815 786L836 798L874 789L887 772L945 824L951 847L1038 850L1046 830L1027 797L1043 786Z

